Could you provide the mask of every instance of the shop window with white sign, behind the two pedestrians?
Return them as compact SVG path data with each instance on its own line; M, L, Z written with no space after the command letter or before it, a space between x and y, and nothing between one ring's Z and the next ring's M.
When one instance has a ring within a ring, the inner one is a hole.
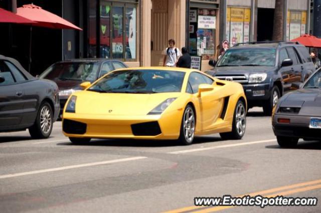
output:
M189 50L209 59L215 54L216 10L191 8Z

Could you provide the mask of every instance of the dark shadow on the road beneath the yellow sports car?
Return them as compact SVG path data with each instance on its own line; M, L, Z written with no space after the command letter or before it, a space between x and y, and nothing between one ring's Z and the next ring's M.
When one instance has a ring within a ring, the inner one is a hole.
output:
M195 137L193 144L222 141L220 137ZM88 146L131 146L131 147L166 147L181 146L176 140L134 140L134 139L102 139L92 140L89 143L73 144L71 142L57 143L57 145L88 145ZM184 145L182 145L184 146Z

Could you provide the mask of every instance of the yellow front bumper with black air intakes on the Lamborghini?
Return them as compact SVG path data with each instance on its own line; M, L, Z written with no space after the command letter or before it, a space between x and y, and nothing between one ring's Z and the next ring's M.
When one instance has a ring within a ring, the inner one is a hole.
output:
M182 110L162 115L140 116L64 113L63 133L67 137L178 139L182 116ZM70 120L80 122L81 128L72 123L67 123ZM160 128L159 132L155 130L157 129L155 122ZM77 134L70 131L73 128L78 128Z

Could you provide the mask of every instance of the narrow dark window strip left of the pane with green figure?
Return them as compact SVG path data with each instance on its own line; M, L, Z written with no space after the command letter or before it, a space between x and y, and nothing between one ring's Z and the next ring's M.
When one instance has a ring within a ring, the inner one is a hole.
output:
M96 58L96 1L89 1L89 58Z

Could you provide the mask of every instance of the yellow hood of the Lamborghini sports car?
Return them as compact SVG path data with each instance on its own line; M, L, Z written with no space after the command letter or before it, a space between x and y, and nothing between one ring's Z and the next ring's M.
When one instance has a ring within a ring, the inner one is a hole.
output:
M77 96L76 113L110 115L147 115L168 98L177 98L181 93L98 93L81 91Z

